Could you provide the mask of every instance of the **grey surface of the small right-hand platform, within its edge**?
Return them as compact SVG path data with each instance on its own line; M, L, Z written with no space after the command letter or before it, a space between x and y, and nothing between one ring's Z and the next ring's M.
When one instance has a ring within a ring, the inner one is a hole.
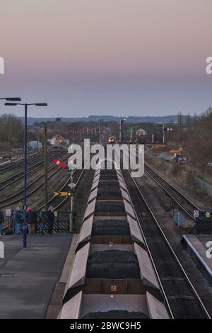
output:
M212 244L212 235L183 235L183 239L207 275L212 277L212 258L207 254L212 246L209 245L209 242Z

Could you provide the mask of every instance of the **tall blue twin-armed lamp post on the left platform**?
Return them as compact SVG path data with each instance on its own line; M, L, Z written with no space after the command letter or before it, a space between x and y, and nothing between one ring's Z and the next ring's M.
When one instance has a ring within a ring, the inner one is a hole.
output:
M11 101L11 99L9 99ZM6 99L8 101L8 99ZM47 106L47 103L4 103L5 106L17 106L21 105L25 108L25 132L24 132L24 203L23 203L23 248L27 246L27 221L26 221L26 210L27 210L27 148L28 148L28 106Z

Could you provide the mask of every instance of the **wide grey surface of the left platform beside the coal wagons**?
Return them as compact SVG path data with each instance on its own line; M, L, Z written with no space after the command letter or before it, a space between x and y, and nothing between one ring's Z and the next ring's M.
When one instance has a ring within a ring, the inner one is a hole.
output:
M61 276L72 236L30 235L22 249L22 235L0 237L0 319L45 318L54 286Z

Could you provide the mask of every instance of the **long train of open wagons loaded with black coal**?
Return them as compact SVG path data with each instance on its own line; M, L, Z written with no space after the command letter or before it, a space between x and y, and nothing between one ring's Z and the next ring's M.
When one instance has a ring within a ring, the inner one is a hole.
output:
M59 318L169 317L122 172L98 167Z

